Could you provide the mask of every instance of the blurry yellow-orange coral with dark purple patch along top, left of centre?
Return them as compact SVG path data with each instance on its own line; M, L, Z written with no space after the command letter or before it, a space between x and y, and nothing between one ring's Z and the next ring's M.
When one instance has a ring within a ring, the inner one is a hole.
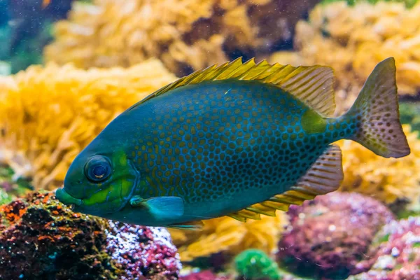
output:
M76 3L56 25L47 60L77 66L130 66L148 57L186 73L225 62L225 50L271 48L290 39L300 15L318 0L96 0Z

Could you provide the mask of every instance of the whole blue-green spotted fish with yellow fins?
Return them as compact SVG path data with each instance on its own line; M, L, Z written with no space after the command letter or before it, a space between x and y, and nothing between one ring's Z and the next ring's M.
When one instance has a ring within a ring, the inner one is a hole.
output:
M57 199L137 225L275 216L339 188L351 139L384 158L409 155L395 59L375 66L335 117L329 66L241 58L179 78L121 113L71 163Z

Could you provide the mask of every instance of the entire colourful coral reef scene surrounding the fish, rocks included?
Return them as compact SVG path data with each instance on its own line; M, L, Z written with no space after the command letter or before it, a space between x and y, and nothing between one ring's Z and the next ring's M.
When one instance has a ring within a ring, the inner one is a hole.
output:
M151 92L242 57L335 70L336 116L395 57L412 153L339 141L339 191L276 217L147 228L75 214L52 191ZM416 0L0 0L0 279L420 279Z

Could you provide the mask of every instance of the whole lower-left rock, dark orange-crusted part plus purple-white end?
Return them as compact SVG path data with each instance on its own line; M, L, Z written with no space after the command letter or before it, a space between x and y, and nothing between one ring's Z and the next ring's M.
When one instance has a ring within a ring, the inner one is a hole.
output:
M0 279L178 279L169 232L74 213L50 193L0 207Z

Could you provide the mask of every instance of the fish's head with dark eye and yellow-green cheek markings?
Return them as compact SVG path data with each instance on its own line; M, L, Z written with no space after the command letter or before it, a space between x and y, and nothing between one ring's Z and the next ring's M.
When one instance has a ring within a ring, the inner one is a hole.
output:
M73 211L109 216L125 207L139 182L139 172L124 151L90 151L89 146L71 163L57 199Z

